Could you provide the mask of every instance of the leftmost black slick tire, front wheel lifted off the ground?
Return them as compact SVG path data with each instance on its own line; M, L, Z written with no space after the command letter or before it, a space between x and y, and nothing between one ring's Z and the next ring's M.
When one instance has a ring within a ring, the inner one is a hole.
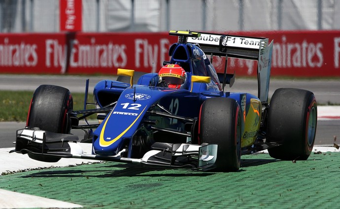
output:
M69 133L71 122L67 113L73 110L72 95L67 88L40 85L34 92L27 126L56 133Z

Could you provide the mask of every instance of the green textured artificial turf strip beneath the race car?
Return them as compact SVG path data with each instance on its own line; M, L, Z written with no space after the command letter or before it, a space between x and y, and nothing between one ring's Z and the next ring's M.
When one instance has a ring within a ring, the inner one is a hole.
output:
M337 208L339 161L340 153L296 163L257 154L233 173L103 162L4 175L0 187L84 208Z

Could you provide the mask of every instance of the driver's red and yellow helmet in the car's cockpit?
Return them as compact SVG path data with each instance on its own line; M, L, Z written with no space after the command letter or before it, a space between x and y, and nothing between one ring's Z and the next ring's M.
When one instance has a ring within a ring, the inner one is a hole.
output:
M161 68L158 76L169 88L184 88L186 80L185 70L177 64L167 64Z

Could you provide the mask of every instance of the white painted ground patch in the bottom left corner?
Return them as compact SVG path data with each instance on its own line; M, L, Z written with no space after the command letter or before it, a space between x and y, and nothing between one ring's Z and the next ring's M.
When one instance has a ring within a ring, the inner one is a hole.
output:
M19 201L18 201L19 200ZM83 208L81 205L0 189L1 209Z

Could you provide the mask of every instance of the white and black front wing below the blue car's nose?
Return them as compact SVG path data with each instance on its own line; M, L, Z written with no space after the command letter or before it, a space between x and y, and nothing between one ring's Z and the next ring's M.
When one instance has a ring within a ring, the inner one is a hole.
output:
M60 137L56 137L59 135ZM215 168L216 144L170 144L156 142L142 158L124 157L125 149L115 156L84 153L76 143L76 136L49 131L22 129L17 131L15 152L46 162L56 162L60 158L83 158L114 162L141 163L173 168L210 170ZM14 152L13 151L13 152Z

